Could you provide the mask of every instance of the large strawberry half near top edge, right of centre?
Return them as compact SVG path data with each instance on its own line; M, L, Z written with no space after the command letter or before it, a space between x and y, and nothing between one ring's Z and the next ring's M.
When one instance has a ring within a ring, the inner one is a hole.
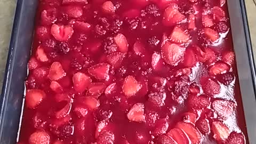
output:
M179 6L171 3L165 10L163 15L163 24L165 26L173 26L185 20L185 15L179 12Z

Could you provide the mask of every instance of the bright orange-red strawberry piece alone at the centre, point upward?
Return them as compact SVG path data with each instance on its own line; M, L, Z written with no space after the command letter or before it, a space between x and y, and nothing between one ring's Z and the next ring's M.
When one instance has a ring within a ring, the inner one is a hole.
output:
M138 83L133 76L127 76L124 79L122 89L126 97L130 98L136 94L141 89L141 87L142 85Z

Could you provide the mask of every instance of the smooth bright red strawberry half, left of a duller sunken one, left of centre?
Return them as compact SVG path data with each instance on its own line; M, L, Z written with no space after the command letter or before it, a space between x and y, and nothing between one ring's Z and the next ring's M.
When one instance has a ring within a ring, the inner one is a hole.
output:
M84 73L78 72L73 75L74 89L77 92L84 92L91 82L92 79Z

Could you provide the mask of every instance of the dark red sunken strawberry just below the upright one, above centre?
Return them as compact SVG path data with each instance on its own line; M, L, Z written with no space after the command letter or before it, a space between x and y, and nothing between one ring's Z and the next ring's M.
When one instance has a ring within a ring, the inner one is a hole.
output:
M124 56L125 54L122 52L111 53L107 55L107 61L114 68L119 68L124 59Z

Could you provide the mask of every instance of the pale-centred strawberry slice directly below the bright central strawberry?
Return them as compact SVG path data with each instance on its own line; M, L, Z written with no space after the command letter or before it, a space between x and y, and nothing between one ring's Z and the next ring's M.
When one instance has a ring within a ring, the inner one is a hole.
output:
M136 103L127 113L127 118L134 122L145 122L144 105Z

